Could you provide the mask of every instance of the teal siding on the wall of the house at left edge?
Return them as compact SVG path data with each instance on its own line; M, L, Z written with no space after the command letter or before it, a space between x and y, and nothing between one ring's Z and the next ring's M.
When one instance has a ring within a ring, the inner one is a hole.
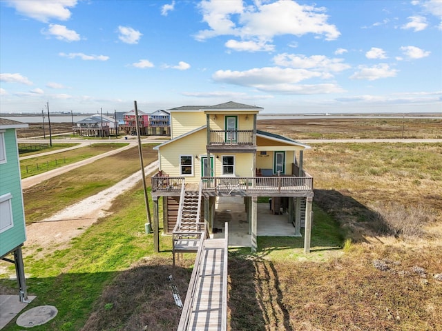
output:
M12 194L12 219L14 226L0 233L0 256L21 245L26 240L21 175L15 129L4 132L6 163L0 164L0 196Z

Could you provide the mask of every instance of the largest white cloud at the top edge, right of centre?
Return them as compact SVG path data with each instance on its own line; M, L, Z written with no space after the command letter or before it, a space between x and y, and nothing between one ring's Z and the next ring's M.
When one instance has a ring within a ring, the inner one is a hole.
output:
M299 37L312 33L324 36L326 40L337 39L340 35L336 26L327 23L325 8L300 6L295 1L279 0L273 3L256 1L254 5L244 7L240 0L212 0L202 1L200 10L203 21L210 29L201 30L195 38L202 41L220 35L240 37L241 41L236 43L229 41L226 44L234 50L256 52L256 46L268 48L267 43L271 43L273 37L283 34ZM237 17L238 19L233 21ZM249 40L255 43L247 43ZM256 40L260 43L256 43Z

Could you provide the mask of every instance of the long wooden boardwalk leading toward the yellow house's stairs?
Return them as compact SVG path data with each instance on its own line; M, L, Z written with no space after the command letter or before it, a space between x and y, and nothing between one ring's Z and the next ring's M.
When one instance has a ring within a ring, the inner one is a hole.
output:
M224 330L227 316L227 245L224 239L206 239L195 286L188 330Z

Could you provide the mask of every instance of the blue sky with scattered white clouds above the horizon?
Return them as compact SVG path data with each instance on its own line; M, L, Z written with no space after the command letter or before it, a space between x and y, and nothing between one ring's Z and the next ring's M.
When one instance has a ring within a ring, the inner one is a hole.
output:
M442 112L442 1L0 1L0 112Z

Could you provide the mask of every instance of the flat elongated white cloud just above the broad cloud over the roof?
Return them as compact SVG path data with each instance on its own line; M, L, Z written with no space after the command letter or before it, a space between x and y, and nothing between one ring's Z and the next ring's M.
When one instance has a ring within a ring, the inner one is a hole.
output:
M303 68L312 70L324 70L339 72L351 68L343 59L328 59L325 55L312 55L306 57L300 54L278 54L273 57L273 62L277 66L285 66L290 68Z

